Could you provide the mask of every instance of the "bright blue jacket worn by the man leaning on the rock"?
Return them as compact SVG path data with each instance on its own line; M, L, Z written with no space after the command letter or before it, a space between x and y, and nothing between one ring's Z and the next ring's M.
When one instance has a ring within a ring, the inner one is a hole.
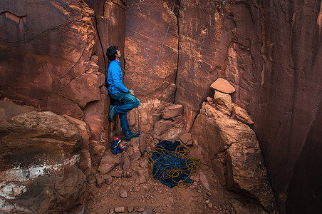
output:
M128 93L128 88L123 85L123 73L120 68L120 61L113 60L108 66L108 91L110 93L118 93L123 91Z

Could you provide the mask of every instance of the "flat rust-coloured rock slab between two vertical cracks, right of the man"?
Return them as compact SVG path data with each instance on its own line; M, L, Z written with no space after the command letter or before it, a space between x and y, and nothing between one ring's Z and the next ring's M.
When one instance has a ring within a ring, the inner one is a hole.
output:
M141 88L155 68L173 4L174 1L128 1L124 54L124 82L128 88ZM142 101L158 98L173 102L178 57L177 6L155 72L147 85L136 93Z

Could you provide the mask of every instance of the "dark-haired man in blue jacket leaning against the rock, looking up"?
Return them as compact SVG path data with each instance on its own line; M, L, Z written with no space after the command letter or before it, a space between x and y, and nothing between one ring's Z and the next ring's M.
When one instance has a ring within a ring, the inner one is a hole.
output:
M115 100L115 106L110 105L108 120L113 121L113 117L118 114L125 141L140 136L140 133L132 133L128 124L127 113L133 108L140 106L140 101L135 98L134 91L123 85L123 73L120 67L121 54L118 46L110 46L106 51L106 56L110 60L108 66L108 93L110 98Z

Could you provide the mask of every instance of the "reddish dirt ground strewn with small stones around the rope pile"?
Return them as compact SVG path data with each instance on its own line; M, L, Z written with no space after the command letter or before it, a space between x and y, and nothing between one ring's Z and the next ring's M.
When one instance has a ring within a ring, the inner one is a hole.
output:
M189 156L200 158L193 146L189 148ZM212 169L198 170L189 188L169 188L150 178L147 153L130 163L126 171L118 165L100 175L94 166L88 179L89 199L84 213L249 213L237 195L222 188ZM261 213L256 208L251 210Z

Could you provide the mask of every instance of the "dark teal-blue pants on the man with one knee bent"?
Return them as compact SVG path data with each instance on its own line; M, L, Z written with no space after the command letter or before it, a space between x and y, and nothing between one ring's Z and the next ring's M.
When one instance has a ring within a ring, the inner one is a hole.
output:
M123 131L123 135L128 137L131 133L130 126L128 125L128 111L133 108L140 106L140 101L135 98L135 96L130 95L129 93L124 93L122 91L118 93L110 93L110 98L115 100L115 114L118 114L120 117L120 123Z

